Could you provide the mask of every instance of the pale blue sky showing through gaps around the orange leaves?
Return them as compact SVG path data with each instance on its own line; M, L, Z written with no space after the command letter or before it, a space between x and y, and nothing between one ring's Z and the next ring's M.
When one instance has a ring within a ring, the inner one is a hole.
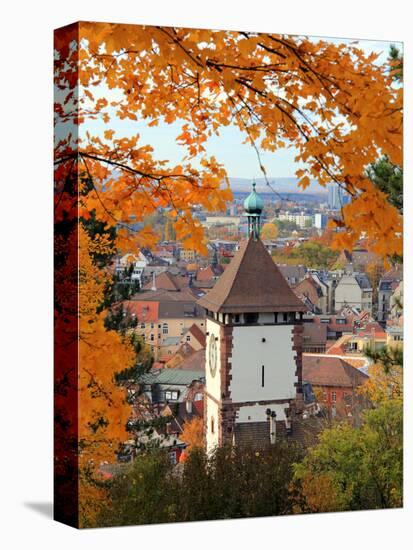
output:
M325 37L322 39L337 44L353 41L353 39L328 39ZM314 40L318 41L318 38L314 37ZM372 52L379 53L380 56L376 63L380 64L386 62L391 44L395 44L402 49L402 45L394 41L360 40L357 47L363 49L367 55ZM103 134L107 128L108 126L99 121L93 121L90 127L93 133L97 132L99 134ZM143 120L134 122L113 118L110 122L110 128L115 130L119 136L133 136L138 133L140 135L139 143L141 145L152 145L155 149L155 157L159 160L168 159L171 165L182 162L185 151L175 141L175 137L180 133L181 124L179 122L170 125L160 122L158 126L149 127ZM220 129L219 137L212 136L208 140L206 145L207 154L208 156L215 156L218 162L223 163L230 177L251 179L262 177L256 152L250 145L242 143L244 139L245 135L235 126L223 127ZM294 160L296 154L297 151L293 147L275 152L260 151L268 177L294 177L296 170L301 167Z

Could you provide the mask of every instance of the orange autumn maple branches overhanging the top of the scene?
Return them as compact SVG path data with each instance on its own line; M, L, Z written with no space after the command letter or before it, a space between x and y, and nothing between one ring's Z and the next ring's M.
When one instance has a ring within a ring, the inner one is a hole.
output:
M303 188L311 178L335 181L351 195L335 246L351 249L366 234L372 251L401 254L401 216L365 174L383 154L402 165L403 89L394 52L379 64L357 45L302 36L107 23L62 29L55 50L58 123L85 125L80 143L62 132L56 178L79 163L93 186L80 213L96 210L118 225L118 246L130 233L140 245L153 244L146 218L167 208L177 238L206 252L191 207L223 210L231 197L225 166L208 156L207 144L232 124L265 178L260 152L292 146L304 166L296 171ZM91 119L108 125L103 135ZM179 125L183 162L158 160L156 144L142 143L137 132L115 132L110 123L119 119Z

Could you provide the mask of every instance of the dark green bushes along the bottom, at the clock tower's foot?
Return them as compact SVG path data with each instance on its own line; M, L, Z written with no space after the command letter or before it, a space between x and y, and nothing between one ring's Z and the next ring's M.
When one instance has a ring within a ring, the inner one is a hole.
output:
M127 525L283 515L292 512L289 486L302 449L194 448L173 467L166 453L139 455L110 486L100 524Z

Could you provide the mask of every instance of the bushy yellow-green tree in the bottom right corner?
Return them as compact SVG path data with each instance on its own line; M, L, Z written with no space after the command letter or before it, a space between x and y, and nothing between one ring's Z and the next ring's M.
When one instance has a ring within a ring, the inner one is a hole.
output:
M345 422L325 429L295 465L296 511L402 506L402 418L402 401L394 399L366 411L360 428Z

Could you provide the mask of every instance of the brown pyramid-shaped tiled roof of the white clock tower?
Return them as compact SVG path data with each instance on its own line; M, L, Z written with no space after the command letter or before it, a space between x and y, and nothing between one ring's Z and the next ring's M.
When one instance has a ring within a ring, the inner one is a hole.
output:
M198 303L223 313L306 311L261 240L245 240L216 285Z

